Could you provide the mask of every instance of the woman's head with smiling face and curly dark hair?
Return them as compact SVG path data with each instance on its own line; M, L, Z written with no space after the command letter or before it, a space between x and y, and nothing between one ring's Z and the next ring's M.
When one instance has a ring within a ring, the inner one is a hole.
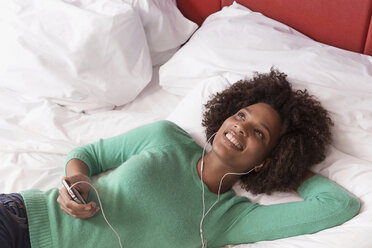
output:
M293 90L286 75L275 69L235 83L205 107L207 138L217 132L214 139L222 137L236 148L229 151L234 153L226 160L230 162L222 164L232 165L236 151L242 156L240 169L263 164L241 178L253 193L296 190L308 169L325 158L331 142L328 112L306 90ZM211 142L212 154L221 154L220 142Z

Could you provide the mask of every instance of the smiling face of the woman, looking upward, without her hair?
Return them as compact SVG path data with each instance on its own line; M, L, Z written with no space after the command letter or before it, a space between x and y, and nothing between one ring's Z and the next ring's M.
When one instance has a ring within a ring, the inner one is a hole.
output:
M264 162L279 140L279 114L266 103L245 107L227 118L212 146L231 172L247 172Z

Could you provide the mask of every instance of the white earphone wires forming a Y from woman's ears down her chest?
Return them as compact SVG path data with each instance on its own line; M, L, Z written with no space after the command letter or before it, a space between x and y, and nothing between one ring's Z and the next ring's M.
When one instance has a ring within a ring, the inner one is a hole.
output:
M253 171L255 169L261 168L264 165L264 163L261 163L260 165L257 165L254 168L250 169L249 171L243 172L243 173L228 172L225 175L223 175L223 177L220 180L219 187L218 187L217 200L212 204L212 206L208 209L208 211L205 212L205 197L204 197L204 182L203 182L204 153L205 153L205 148L206 148L207 144L212 139L212 137L215 136L216 134L217 133L212 134L211 137L209 137L207 142L204 144L202 159L201 159L201 165L200 165L200 182L201 182L201 186L202 186L203 213L202 213L202 218L200 220L199 233L200 233L200 239L201 239L201 242L202 242L202 248L207 248L207 240L204 240L204 237L203 237L204 219L207 216L207 214L212 210L212 208L217 204L217 202L220 200L222 181L225 178L225 176L227 176L227 175L246 175L246 174L250 173L251 171Z

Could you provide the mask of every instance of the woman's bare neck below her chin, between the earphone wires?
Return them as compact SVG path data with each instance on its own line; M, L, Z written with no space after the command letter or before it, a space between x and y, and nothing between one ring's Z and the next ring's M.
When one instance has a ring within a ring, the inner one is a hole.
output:
M202 158L199 159L197 163L197 169L199 177L201 177L201 162ZM222 177L231 172L228 167L222 164L218 159L214 158L209 152L203 158L203 182L207 185L209 191L217 194L220 186L220 181ZM221 185L220 193L223 194L229 191L233 185L239 180L240 176L237 175L227 175L224 177Z

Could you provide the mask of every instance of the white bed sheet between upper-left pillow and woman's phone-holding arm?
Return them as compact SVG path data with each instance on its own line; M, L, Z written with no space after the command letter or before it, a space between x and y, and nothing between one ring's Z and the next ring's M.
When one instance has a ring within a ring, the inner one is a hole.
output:
M48 100L0 91L0 191L61 187L64 162L74 147L165 119L181 97L162 89L158 67L131 103L93 114L76 113Z

